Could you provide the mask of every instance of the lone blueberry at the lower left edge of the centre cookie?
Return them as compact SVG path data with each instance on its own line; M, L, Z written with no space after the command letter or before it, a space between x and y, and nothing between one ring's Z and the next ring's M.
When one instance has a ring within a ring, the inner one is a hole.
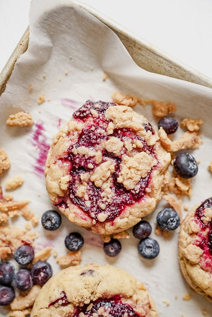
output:
M55 210L47 210L41 217L41 223L44 229L54 231L61 225L62 218L59 212Z

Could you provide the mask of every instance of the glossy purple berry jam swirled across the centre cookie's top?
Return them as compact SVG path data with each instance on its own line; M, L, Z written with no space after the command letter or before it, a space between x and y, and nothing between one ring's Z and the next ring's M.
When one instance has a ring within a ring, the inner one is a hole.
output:
M106 215L106 219L101 219L101 222L114 220L123 212L126 206L141 201L147 192L146 190L151 181L151 174L156 168L156 165L151 168L146 177L140 178L133 189L126 189L123 183L117 181L121 170L120 165L123 161L123 156L126 156L126 154L129 153L126 145L127 142L134 146L134 153L145 152L154 157L156 164L158 164L154 146L148 146L145 138L137 135L131 129L117 129L114 127L113 132L108 135L107 128L111 121L106 120L104 114L111 106L115 106L115 104L103 101L93 103L88 100L83 107L73 114L73 118L79 122L85 122L85 126L78 135L76 143L69 147L67 155L63 158L63 161L70 162L70 181L68 185L68 196L70 201L83 210L91 219L95 219L96 222L99 222L98 215L100 213L101 215ZM95 116L94 114L96 113L97 115ZM148 121L143 121L142 125L146 132L150 131L154 135L153 127ZM116 138L116 141L117 139L118 141L120 140L119 142L124 144L121 152L108 152L101 146L103 142L108 141L111 137L114 137L114 139ZM136 147L134 145L135 142L140 142L142 146ZM81 153L78 153L77 149L79 147L89 149L89 151L93 151L93 153L100 153L100 161L96 159L95 154L82 155ZM108 160L114 165L114 171L111 173L108 180L112 192L110 193L109 190L110 197L106 199L102 188L100 186L97 187L95 182L90 179L86 179L86 175L92 173L100 163L108 162ZM79 185L82 184L82 178L87 182L87 198L84 196L80 197L80 195L77 194ZM63 208L66 207L65 201L61 200L59 204L57 203L57 206Z

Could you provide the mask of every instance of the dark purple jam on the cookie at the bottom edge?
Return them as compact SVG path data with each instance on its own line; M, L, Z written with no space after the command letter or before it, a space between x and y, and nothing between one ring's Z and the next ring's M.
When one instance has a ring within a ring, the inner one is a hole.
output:
M92 307L87 310L88 306L77 307L74 317L79 317L80 313L85 316L91 317L93 314L97 314L99 317L105 316L106 313L109 317L138 317L139 315L133 310L129 304L124 304L118 299L102 299L92 303ZM143 315L145 316L145 315Z

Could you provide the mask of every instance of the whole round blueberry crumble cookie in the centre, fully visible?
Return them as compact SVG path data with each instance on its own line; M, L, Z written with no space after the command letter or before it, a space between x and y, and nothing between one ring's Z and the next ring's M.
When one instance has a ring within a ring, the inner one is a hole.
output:
M170 153L131 107L87 101L54 138L45 165L52 203L101 234L132 227L161 198Z

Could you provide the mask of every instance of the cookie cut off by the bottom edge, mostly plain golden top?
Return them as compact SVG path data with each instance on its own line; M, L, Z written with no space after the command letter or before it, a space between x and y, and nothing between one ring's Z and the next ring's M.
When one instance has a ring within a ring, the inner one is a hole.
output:
M108 264L65 268L42 287L31 317L157 317L142 283Z

